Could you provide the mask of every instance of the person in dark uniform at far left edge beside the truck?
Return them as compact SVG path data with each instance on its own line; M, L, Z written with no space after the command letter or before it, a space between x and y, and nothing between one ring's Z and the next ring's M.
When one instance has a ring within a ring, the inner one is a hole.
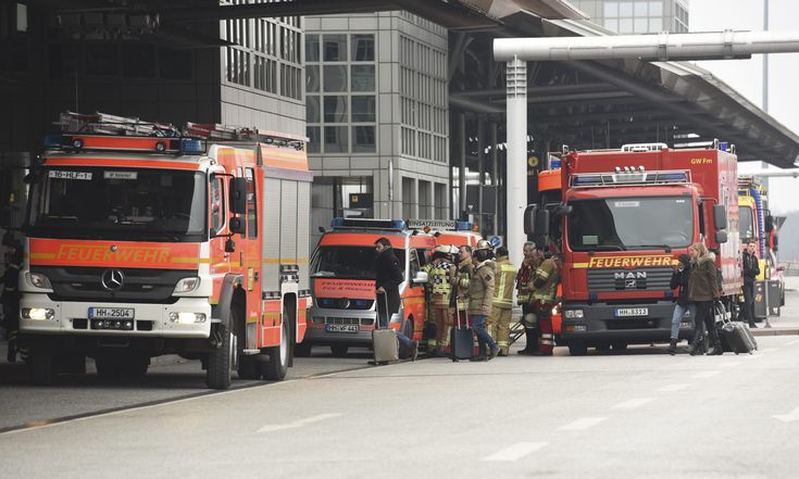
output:
M20 352L23 361L27 360L27 351L17 346L17 333L20 329L20 269L22 269L22 244L5 232L2 239L2 245L5 247L5 273L0 277L0 283L3 285L2 299L3 305L3 327L9 338L9 363L16 362L16 353Z

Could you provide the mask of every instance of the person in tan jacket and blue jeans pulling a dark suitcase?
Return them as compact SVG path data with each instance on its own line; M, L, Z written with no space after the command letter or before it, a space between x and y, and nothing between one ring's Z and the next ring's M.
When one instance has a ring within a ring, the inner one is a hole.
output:
M469 316L477 336L479 354L469 361L490 361L499 354L499 345L486 330L486 318L491 314L495 286L492 257L491 244L486 240L477 241L472 253L474 266L469 282ZM486 351L486 345L490 346L490 351Z

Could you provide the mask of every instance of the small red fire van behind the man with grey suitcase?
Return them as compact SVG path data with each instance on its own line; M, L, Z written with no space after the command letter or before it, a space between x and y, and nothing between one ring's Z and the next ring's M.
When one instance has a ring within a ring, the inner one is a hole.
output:
M311 260L313 305L304 342L298 346L301 354L310 354L314 345L330 346L336 356L346 355L352 346L372 346L377 315L374 245L384 237L391 242L404 275L401 314L390 326L411 339L422 339L427 274L421 269L436 247L433 236L409 229L402 219L335 218ZM400 354L405 356L408 351Z

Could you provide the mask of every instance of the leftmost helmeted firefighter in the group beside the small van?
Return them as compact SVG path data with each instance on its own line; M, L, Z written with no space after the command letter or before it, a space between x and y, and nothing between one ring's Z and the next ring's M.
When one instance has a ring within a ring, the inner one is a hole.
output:
M429 291L433 304L436 333L427 340L428 351L434 356L446 354L449 346L449 328L452 312L449 307L452 292L452 278L455 276L455 266L450 260L450 247L439 244L433 250L433 262L426 264L423 270L427 272L426 289Z

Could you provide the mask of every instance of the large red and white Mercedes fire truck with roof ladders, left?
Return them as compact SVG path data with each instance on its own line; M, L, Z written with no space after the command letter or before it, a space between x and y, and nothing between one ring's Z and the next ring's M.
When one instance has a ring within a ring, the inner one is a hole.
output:
M220 125L62 115L32 184L21 331L34 379L64 358L103 376L201 360L211 388L279 380L302 341L304 139Z

